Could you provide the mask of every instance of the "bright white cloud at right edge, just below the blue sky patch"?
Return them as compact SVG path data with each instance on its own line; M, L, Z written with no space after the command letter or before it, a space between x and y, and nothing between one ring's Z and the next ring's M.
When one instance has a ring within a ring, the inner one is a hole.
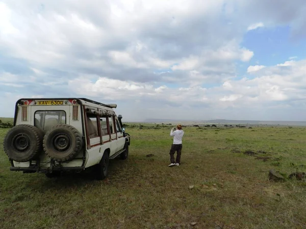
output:
M257 77L252 79L242 78L224 82L223 89L227 93L239 92L243 95L245 105L248 105L249 100L253 101L252 106L264 105L271 101L300 101L306 99L303 93L305 91L303 85L306 84L305 64L306 60L290 63L290 65L285 62L265 67L265 72L258 73ZM292 66L292 68L284 71L281 69L283 66ZM240 100L240 103L243 104L243 101Z

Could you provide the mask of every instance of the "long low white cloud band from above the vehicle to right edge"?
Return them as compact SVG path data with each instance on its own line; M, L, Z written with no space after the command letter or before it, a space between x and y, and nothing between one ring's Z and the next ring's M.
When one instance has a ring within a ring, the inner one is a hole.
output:
M250 101L261 104L269 101L284 101L296 98L295 91L301 90L301 84L306 83L303 78L304 62L298 62L295 69L280 75L277 68L281 65L266 67L268 75L258 75L255 78L242 78L240 80L228 80L215 88L203 88L199 85L194 87L181 87L171 89L165 85L157 86L148 83L133 81L114 80L100 77L96 81L86 80L80 77L69 81L69 87L79 94L104 97L106 99L152 99L168 102L205 101L218 106L221 102L236 102L244 105ZM196 72L193 72L196 74ZM301 84L300 84L301 82ZM238 93L237 93L238 92ZM220 96L222 95L223 96Z

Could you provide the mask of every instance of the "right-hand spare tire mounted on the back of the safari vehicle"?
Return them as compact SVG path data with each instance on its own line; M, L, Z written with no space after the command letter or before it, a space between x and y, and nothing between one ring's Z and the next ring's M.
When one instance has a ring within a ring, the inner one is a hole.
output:
M59 124L50 128L43 138L43 149L56 161L69 161L77 156L83 147L80 132L73 126Z

